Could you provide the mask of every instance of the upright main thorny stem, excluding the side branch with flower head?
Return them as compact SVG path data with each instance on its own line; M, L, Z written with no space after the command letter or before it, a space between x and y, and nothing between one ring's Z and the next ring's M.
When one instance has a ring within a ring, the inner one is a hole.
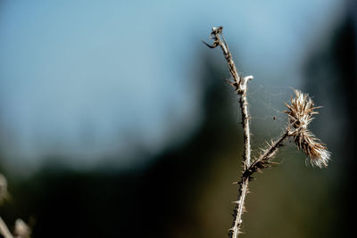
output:
M253 76L248 76L245 78L240 78L237 72L237 68L232 59L232 54L228 50L228 44L226 43L223 35L222 35L223 27L212 28L211 36L214 39L213 45L208 45L203 42L205 45L210 48L215 48L220 46L223 51L223 54L228 63L229 72L234 78L234 82L230 82L232 86L235 87L237 94L240 95L239 103L242 114L242 124L244 130L244 143L245 143L245 151L243 154L243 166L244 171L246 171L251 166L251 135L250 135L250 127L249 127L249 112L248 112L248 101L246 99L246 90L247 83ZM239 226L242 224L242 214L245 210L245 196L248 193L248 184L249 184L249 176L242 176L241 182L239 183L239 193L237 201L235 201L236 208L233 212L233 226L229 229L229 237L237 238L239 234Z

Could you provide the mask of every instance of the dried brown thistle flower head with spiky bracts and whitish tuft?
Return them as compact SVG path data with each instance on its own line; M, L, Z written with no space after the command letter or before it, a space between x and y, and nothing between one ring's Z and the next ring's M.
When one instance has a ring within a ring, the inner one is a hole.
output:
M310 157L311 165L327 167L330 152L307 128L313 119L312 115L319 113L314 111L319 107L314 107L309 94L303 94L298 90L295 90L295 97L291 97L286 107L288 111L285 112L289 116L289 135L294 137L296 146Z

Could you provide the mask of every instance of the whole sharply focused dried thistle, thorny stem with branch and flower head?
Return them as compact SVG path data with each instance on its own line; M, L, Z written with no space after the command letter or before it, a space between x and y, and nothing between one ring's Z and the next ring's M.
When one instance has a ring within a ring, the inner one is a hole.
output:
M233 62L232 54L228 50L228 44L222 34L223 27L212 28L211 37L213 44L209 45L203 42L210 48L220 46L223 55L228 63L228 69L233 77L233 81L229 84L234 87L235 92L239 95L239 104L242 114L243 138L244 138L244 154L243 154L243 173L239 185L236 207L233 212L233 225L229 229L229 237L237 238L241 234L240 226L242 224L242 215L245 212L245 197L248 193L248 185L253 174L259 172L262 168L270 167L275 162L272 161L278 148L284 144L288 137L293 137L296 146L310 158L311 164L319 168L327 167L330 153L325 144L321 144L320 140L315 137L308 129L309 124L313 119L313 115L318 107L314 107L314 103L308 94L295 90L295 97L292 97L290 103L286 103L288 115L288 123L284 133L268 147L262 151L262 154L251 162L251 135L250 135L250 116L248 111L248 101L246 98L247 83L253 79L253 76L242 78L237 72L235 63Z

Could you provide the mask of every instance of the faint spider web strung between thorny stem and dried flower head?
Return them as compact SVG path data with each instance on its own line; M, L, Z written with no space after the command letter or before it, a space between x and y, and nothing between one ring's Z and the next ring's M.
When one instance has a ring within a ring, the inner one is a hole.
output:
M267 86L254 83L249 85L247 92L249 110L251 114L252 133L252 158L256 158L285 131L287 116L285 103L290 101L294 88L291 86ZM237 107L237 121L240 121L240 111ZM294 142L286 140L287 148L282 148L285 156L277 155L277 161L282 162L285 158L301 156L301 152L295 149Z

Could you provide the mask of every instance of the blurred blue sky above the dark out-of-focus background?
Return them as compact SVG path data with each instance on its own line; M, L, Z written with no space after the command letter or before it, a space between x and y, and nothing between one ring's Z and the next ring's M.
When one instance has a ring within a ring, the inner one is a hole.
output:
M35 166L57 153L90 166L135 153L133 141L159 152L172 128L185 136L195 127L192 72L212 26L225 27L239 67L257 84L298 87L309 47L343 7L338 0L2 1L4 159Z

